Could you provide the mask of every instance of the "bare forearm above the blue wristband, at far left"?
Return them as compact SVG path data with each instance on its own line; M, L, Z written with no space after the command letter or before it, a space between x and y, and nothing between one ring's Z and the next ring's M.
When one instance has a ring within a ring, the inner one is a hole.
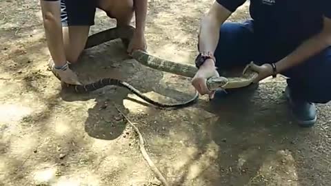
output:
M50 50L56 66L64 65L66 64L66 53L63 47L60 1L40 0L40 3L48 50Z

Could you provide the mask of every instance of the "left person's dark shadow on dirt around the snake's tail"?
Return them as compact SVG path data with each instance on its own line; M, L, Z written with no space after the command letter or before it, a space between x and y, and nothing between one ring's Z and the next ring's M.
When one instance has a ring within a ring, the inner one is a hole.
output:
M121 43L120 39L108 41L94 48L85 50L77 65L72 65L82 83L92 83L102 78L120 79L130 83L141 93L157 92L165 97L180 101L192 99L194 94L180 92L159 81L163 78L163 72L147 68L137 61L134 61ZM116 104L122 112L128 112L123 105L125 99L143 105L150 105L141 99L132 99L130 90L123 87L107 86L94 92L77 94L63 89L61 98L64 101L86 101L88 118L85 123L85 130L89 136L94 138L112 140L123 133L126 128L126 120L118 112ZM96 102L91 103L94 99Z

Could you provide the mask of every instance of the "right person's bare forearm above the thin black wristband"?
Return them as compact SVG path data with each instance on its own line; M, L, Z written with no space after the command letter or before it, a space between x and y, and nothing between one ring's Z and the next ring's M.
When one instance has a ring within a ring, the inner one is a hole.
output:
M324 17L323 25L323 30L319 34L303 42L291 54L275 63L278 73L302 63L331 45L331 19Z

